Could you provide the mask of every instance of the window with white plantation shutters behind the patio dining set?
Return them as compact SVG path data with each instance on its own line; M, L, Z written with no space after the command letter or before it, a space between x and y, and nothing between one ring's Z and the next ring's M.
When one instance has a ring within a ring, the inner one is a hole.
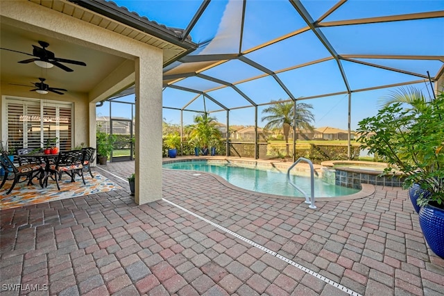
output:
M6 98L6 134L9 147L44 147L58 138L61 150L71 149L71 103Z

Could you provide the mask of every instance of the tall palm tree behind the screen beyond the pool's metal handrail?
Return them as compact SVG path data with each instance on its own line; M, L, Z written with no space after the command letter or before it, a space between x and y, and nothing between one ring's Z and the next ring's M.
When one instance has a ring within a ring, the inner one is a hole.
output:
M287 101L284 102L282 99L278 101L271 101L275 104L272 104L268 108L262 110L262 113L269 113L270 115L266 115L262 117L262 121L267 121L264 128L265 129L283 129L284 131L284 139L287 144L287 156L290 155L289 151L289 131L293 126L293 102ZM311 104L306 103L298 103L296 104L296 128L298 129L309 129L313 130L313 126L311 126L311 122L314 122L314 115L311 113L313 106Z

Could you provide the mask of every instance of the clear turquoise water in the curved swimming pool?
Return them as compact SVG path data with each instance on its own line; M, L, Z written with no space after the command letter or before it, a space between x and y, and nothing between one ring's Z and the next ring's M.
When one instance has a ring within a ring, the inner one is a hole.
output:
M303 197L302 193L287 183L286 172L280 172L275 168L258 170L250 167L241 167L230 163L209 163L207 161L182 161L166 163L165 169L172 170L196 170L200 172L210 172L217 174L234 186L253 190L257 192L269 193L273 195L284 195L289 197ZM293 183L302 188L307 195L310 195L310 178L308 176L290 175ZM315 197L337 197L351 195L358 192L357 189L336 186L326 183L321 179L314 179Z

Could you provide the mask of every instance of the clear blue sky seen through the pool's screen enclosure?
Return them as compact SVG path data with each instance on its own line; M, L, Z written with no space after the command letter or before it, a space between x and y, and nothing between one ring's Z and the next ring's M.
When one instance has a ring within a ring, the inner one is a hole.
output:
M202 1L128 1L114 0L119 6L125 6L130 11L146 16L151 21L169 27L186 28L198 10ZM336 1L302 1L313 19L321 17ZM384 15L400 15L409 13L422 13L428 11L444 10L444 1L416 1L416 0L389 0L389 1L358 1L350 0L326 17L323 22L334 22L342 19L359 19L365 17L379 17ZM211 1L210 5L200 17L191 31L194 42L206 42L205 47L196 50L191 55L202 54L232 54L239 51L248 51L274 38L291 33L307 24L296 13L289 1L275 0L248 0L246 2L246 17L242 44L239 44L241 32L242 1ZM443 18L420 19L404 22L384 22L377 24L330 26L322 28L322 32L338 54L389 54L389 55L433 55L444 56L444 33L436 30L444 26ZM430 28L434 28L431 30ZM330 53L311 32L300 33L268 47L252 51L246 58L259 63L264 67L278 72L278 78L287 86L294 97L302 99L304 103L313 106L315 120L314 126L333 126L339 129L348 129L348 94L338 94L316 99L306 97L323 94L343 92L345 83L339 72L335 60L327 60L307 67L282 71L288 67L308 63L330 57ZM359 59L362 63L373 63L385 67L400 68L407 72L433 76L443 66L440 60L401 60L401 59ZM171 65L170 67L172 67ZM347 77L352 90L373 88L377 85L389 85L405 81L416 81L420 78L399 72L368 67L360 63L341 61L341 67ZM214 76L217 79L237 83L263 72L242 63L231 60L227 63L208 69L203 74ZM190 77L179 81L177 85L208 90L219 86L218 83ZM289 99L289 95L282 90L272 77L264 77L245 83L236 84L257 104L266 104L271 100ZM426 95L430 92L427 81L414 85ZM394 89L372 90L366 92L352 92L351 98L351 124L352 130L357 128L359 120L373 116L380 108L379 99L387 96ZM246 99L231 88L223 88L209 92L214 99L224 106L232 109L239 106L249 106ZM196 94L166 88L163 92L164 106L182 108L188 104ZM121 98L132 100L133 97ZM109 115L109 107L98 108L98 115ZM209 99L205 99L206 110L221 110ZM203 110L203 97L197 97L187 106L191 110ZM258 108L258 125L264 126L261 121L264 116ZM128 116L128 108L112 109L112 116ZM125 111L126 110L126 111ZM191 124L194 112L184 111L182 118L184 124ZM227 113L214 112L212 116L219 122L226 123ZM164 108L164 120L171 124L180 123L180 111ZM241 108L230 110L230 125L254 125L255 108Z

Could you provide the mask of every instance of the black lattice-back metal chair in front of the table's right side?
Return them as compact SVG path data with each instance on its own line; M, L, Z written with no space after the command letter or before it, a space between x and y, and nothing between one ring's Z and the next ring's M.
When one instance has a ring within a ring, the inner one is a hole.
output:
M85 178L83 178L83 161L85 160L85 151L83 150L70 150L60 151L56 160L56 163L49 165L48 172L54 175L53 179L56 181L57 188L60 190L58 183L60 175L65 172L71 177L71 182L75 182L76 174L82 177L83 184ZM48 186L48 178L45 179L44 186Z

